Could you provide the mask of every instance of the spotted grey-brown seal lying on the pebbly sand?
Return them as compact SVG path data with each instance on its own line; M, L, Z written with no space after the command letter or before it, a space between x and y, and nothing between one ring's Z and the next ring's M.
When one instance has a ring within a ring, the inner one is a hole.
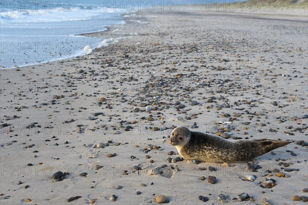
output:
M186 127L177 127L169 138L169 143L176 146L184 159L217 163L248 162L291 142L271 139L234 141L214 134L190 131Z

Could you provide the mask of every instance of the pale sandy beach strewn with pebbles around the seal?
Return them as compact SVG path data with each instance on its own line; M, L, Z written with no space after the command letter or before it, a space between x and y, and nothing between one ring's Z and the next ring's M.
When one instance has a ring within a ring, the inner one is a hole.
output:
M307 204L307 12L124 18L89 55L0 71L0 203ZM177 126L294 142L250 166L171 162Z

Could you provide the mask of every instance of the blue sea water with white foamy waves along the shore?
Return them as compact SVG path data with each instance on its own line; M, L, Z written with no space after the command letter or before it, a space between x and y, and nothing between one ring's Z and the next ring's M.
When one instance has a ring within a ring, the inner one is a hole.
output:
M47 63L85 55L102 46L104 38L79 34L106 30L125 24L123 13L141 9L174 11L177 4L204 4L219 1L0 1L0 69Z

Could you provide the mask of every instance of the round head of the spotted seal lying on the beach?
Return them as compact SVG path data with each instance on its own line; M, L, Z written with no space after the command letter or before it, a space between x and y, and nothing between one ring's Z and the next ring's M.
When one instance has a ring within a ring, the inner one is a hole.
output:
M191 132L186 127L177 127L171 133L169 143L173 146L185 146L190 140Z

